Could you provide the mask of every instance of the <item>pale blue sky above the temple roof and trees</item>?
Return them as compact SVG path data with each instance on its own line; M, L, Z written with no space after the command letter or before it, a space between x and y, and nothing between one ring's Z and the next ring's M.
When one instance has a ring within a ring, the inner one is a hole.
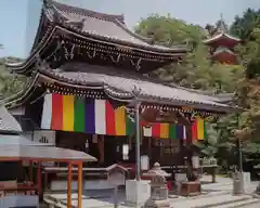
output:
M223 14L232 23L247 8L260 9L260 0L60 0L105 13L125 14L132 28L152 13L168 14L188 23L214 23ZM39 22L41 0L1 0L0 56L26 57Z

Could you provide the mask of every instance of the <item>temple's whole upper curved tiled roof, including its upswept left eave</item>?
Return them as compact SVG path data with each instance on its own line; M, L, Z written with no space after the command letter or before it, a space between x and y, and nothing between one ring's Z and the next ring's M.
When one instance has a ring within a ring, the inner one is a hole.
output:
M35 57L50 44L53 36L56 36L60 31L118 48L127 47L144 54L161 55L166 58L179 57L188 51L186 46L167 48L150 43L148 38L141 37L127 28L122 15L102 14L57 3L53 0L44 0L42 13L41 18L47 17L49 20L48 28L38 28L38 36L41 29L46 30L41 31L42 38L38 43L35 42L34 49L26 61L23 63L6 63L8 67L24 73L35 61ZM56 20L55 15L63 21ZM81 29L75 26L78 23L82 23Z

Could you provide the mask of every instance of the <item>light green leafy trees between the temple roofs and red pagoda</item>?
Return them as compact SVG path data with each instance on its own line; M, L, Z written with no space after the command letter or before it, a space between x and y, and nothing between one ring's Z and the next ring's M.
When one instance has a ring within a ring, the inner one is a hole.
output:
M164 81L182 87L214 92L234 92L243 70L239 65L212 64L209 49L203 43L206 31L171 16L152 15L142 20L135 31L155 43L173 47L187 42L193 50L179 64L171 64L155 72ZM220 88L221 87L221 88Z

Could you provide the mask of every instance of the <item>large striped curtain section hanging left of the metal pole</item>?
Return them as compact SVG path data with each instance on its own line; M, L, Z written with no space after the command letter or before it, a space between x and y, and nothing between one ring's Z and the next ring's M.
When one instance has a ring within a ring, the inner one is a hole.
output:
M133 128L126 108L114 109L108 101L61 94L44 96L41 129L127 135Z

